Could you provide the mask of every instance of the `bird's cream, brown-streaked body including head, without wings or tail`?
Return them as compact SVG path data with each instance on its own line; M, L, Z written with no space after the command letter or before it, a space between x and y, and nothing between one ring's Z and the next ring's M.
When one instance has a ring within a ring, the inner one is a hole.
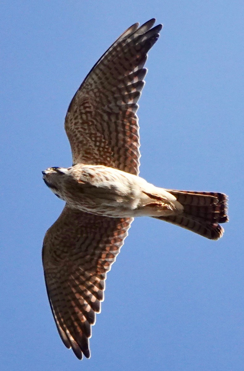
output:
M73 209L108 217L169 216L182 213L176 197L143 178L104 165L50 168L43 177Z

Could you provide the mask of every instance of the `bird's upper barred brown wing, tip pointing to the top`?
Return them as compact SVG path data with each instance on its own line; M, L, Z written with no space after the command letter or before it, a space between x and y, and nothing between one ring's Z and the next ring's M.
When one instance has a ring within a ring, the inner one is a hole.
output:
M148 50L162 25L155 19L128 28L98 60L73 97L65 118L73 164L139 173L137 101Z

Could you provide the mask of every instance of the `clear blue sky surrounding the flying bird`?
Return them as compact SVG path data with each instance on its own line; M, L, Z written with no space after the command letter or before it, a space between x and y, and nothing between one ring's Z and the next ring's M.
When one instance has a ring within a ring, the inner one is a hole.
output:
M1 1L1 350L6 370L239 371L244 356L243 1ZM44 287L44 233L63 201L42 181L68 167L69 102L131 24L156 17L139 101L141 176L222 191L230 222L212 242L137 219L108 274L78 361Z

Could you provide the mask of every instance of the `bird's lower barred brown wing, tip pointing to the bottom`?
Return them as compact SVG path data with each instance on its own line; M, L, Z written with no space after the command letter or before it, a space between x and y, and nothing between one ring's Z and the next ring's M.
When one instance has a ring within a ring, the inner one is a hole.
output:
M89 338L100 312L106 273L133 219L88 214L65 206L43 242L44 276L59 334L76 357L90 357Z

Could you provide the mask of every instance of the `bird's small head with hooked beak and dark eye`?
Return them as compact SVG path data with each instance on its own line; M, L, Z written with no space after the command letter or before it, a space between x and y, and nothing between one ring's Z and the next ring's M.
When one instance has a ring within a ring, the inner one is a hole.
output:
M42 171L42 178L45 184L59 198L62 198L62 184L68 173L69 170L63 167L49 167L47 170Z

